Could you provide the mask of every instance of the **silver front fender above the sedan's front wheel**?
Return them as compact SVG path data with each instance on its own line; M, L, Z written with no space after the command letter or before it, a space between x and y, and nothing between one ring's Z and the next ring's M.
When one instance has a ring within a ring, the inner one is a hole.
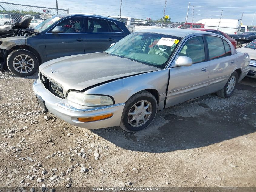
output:
M166 89L169 82L169 69L147 72L104 83L84 91L84 94L108 95L115 104L125 103L132 95L146 89L155 89L159 94L159 107L163 109Z

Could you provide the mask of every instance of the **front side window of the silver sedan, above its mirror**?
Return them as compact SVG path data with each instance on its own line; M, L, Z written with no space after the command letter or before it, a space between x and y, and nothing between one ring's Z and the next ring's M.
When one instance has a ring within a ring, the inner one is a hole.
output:
M205 53L204 53L204 41L201 36L193 37L188 39L183 45L179 56L190 57L194 63L204 62Z

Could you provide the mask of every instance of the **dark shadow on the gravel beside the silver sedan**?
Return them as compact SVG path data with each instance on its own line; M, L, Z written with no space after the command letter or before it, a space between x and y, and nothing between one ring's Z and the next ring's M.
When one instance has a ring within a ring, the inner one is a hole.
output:
M91 131L123 149L151 153L198 148L247 135L256 131L255 83L256 79L246 78L238 84L237 89L250 93L242 96L254 100L243 108L231 105L230 110L215 110L204 101L196 104L204 108L198 116L182 117L171 114L172 109L163 110L148 128L138 133L127 133L119 127ZM190 103L184 103L177 107L182 111L189 106ZM241 113L247 115L246 119Z

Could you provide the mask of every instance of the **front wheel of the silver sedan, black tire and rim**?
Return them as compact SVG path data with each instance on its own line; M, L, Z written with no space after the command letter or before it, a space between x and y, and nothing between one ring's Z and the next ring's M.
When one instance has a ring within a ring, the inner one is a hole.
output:
M151 93L138 92L125 103L119 126L128 132L145 129L154 120L157 107L157 101Z

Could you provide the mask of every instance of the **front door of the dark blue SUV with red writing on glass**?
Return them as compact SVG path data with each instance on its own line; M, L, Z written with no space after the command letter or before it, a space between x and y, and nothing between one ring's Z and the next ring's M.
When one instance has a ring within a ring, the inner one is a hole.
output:
M52 33L53 27L45 34L45 48L48 61L85 52L83 24L83 17L71 17L64 19L54 26L62 26L64 29L63 33Z

